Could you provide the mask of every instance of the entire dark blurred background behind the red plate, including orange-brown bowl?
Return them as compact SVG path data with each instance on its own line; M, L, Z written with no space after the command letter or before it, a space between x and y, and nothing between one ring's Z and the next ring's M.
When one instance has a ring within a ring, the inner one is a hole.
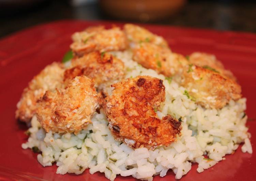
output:
M0 38L62 19L111 20L256 33L249 0L0 0Z

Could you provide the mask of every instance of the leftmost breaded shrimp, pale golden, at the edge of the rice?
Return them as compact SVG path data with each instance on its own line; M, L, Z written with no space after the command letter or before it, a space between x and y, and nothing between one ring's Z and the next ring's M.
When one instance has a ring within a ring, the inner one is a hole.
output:
M47 65L28 84L17 104L16 119L29 122L35 114L36 101L43 97L45 91L61 88L64 68L61 63Z

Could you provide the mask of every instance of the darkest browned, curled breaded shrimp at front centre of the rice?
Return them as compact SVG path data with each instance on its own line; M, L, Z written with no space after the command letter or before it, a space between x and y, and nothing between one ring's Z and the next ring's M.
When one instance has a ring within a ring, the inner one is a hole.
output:
M112 95L101 100L114 137L132 148L170 145L181 132L181 122L167 115L159 119L156 111L165 100L163 81L138 76L112 85Z

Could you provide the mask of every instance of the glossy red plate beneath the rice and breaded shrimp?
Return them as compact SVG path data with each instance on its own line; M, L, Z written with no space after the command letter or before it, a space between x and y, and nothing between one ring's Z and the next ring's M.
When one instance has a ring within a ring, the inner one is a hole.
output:
M110 27L113 22L102 21L58 21L36 26L0 40L0 180L10 178L19 180L107 180L104 174L59 175L57 166L42 167L36 154L24 150L21 144L27 141L24 124L14 118L16 103L28 82L53 61L60 61L69 50L71 34L92 25ZM121 23L115 23L122 26ZM213 53L238 78L243 96L247 98L247 115L252 133L252 146L256 151L256 35L249 33L219 32L211 30L186 29L167 26L145 25L170 44L174 52L190 54L194 51ZM196 171L193 164L189 173L181 180L255 180L256 154L242 153L241 146L226 160L221 161L202 173ZM132 177L117 176L116 180L134 180ZM175 180L172 171L154 180Z

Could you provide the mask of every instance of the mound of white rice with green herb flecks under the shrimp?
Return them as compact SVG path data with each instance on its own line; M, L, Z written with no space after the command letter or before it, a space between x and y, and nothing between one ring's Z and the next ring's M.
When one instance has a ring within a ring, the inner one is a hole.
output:
M180 179L191 169L192 163L198 163L197 171L202 172L225 159L225 154L234 152L240 143L244 143L243 152L252 153L251 135L245 126L245 98L230 101L220 110L202 108L190 100L184 94L185 88L174 80L166 80L163 75L132 61L129 51L112 53L124 61L126 78L149 75L164 80L166 101L157 115L162 118L171 114L181 120L182 136L168 147L133 150L114 140L102 110L94 114L88 129L77 135L45 133L33 117L28 129L30 137L22 148L39 148L42 153L37 155L37 160L43 166L56 162L57 174L81 174L89 168L91 174L104 172L109 180L114 180L118 174L153 180L154 175L164 177L171 169L175 178ZM108 92L111 93L111 89Z

